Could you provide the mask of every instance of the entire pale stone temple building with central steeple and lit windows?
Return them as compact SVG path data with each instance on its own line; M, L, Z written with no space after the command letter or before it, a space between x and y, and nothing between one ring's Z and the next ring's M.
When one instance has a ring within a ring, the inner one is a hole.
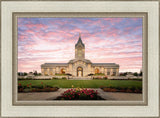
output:
M85 45L79 35L75 44L75 59L68 63L44 63L41 65L42 75L72 74L73 77L87 77L88 74L103 73L106 76L118 76L119 65L115 63L92 63L85 59Z

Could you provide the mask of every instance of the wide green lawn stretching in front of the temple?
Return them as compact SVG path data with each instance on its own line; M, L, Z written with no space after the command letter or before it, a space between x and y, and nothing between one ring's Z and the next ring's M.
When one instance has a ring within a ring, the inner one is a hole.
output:
M123 87L123 88L142 88L142 81L136 80L19 80L22 86L32 84L32 86L49 85L59 88L100 88L101 86L106 87Z

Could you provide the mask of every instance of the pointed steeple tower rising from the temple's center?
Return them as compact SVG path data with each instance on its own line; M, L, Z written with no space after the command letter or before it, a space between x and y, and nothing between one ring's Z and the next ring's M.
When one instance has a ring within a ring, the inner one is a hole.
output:
M84 59L85 58L85 45L81 39L81 33L79 33L79 39L75 45L75 58Z

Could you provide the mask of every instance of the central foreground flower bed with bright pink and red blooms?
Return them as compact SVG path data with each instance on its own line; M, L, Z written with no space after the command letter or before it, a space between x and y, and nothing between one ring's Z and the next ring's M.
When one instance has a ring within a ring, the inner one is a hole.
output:
M98 92L93 89L68 89L56 100L104 100L98 96Z

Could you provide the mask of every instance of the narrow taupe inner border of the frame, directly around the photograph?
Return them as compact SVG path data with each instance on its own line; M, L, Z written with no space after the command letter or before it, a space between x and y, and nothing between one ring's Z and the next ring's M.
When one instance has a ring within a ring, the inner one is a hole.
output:
M15 46L14 48L13 48L13 59L14 59L14 61L13 61L13 65L18 65L17 64L17 38L18 38L18 36L17 36L17 19L18 18L23 18L23 17L29 17L29 18L37 18L37 17L44 17L44 18L46 18L46 17L53 17L53 18L56 18L56 17L58 17L58 18L68 18L68 17L72 17L72 18L77 18L77 17L95 17L95 14L96 14L96 18L98 18L98 17L100 17L100 18L102 18L102 17L129 17L129 18L132 18L132 17L134 17L134 18L139 18L139 17L142 17L143 18L143 29L146 29L146 22L147 22L147 14L145 14L145 13L125 13L125 14L116 14L116 13L112 13L112 14L107 14L107 13L16 13L16 12L14 12L13 13L13 36L14 37L12 37L13 38L13 45ZM119 16L120 15L120 16ZM143 40L143 43L144 43L144 52L143 52L143 57L146 57L146 55L147 55L147 52L145 51L146 49L146 45L147 45L147 37L145 38L145 36L146 36L146 34L147 34L147 30L143 30L143 35L144 35L144 40ZM143 58L143 67L146 69L147 68L147 64L145 64L146 62L147 62L147 58ZM50 102L50 101L39 101L39 102L32 102L32 101L25 101L25 103L23 102L23 101L18 101L17 100L17 71L14 69L14 68L16 68L16 67L14 67L13 66L13 70L14 70L14 75L13 75L13 105L45 105L45 106L47 106L47 105L62 105L62 106L66 106L66 105L89 105L89 106L93 106L93 105L95 105L95 104L98 104L98 105L102 105L102 106L104 106L104 105L123 105L123 106L128 106L128 105L133 105L133 106L135 106L135 105L147 105L147 92L146 92L146 90L147 90L147 76L145 76L145 72L147 72L147 70L146 71L144 71L144 78L146 78L146 79L143 79L143 100L142 101L90 101L90 102L88 102L88 101L79 101L79 102L76 102L76 101L69 101L69 102L66 102L66 101L56 101L56 100L54 100L53 102Z

